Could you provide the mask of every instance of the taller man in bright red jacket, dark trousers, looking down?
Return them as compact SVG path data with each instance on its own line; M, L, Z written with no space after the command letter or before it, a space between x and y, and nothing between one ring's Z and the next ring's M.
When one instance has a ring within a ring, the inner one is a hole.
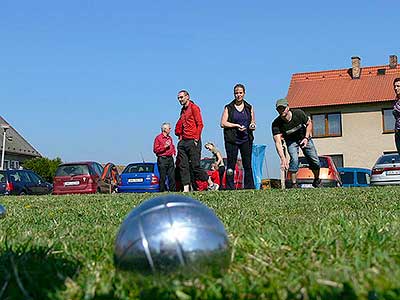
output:
M196 180L208 181L208 189L217 190L218 185L200 167L201 131L204 127L200 108L190 100L190 95L185 90L179 91L178 101L182 109L175 126L175 135L179 138L178 159L183 191L189 192L190 183ZM191 170L193 180L190 178Z

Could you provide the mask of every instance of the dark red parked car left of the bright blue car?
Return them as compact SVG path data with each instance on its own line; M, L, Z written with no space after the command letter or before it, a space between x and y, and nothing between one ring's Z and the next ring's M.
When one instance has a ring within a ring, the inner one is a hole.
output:
M53 182L53 194L112 193L119 178L116 168L109 163L106 168L94 161L72 162L58 166Z

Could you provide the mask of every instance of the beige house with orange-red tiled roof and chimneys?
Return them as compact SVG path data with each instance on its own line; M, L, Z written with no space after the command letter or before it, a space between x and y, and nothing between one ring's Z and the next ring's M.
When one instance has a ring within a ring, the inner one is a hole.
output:
M320 155L338 167L371 168L383 153L396 151L393 80L400 77L397 56L388 65L293 74L287 99L313 121L313 140Z

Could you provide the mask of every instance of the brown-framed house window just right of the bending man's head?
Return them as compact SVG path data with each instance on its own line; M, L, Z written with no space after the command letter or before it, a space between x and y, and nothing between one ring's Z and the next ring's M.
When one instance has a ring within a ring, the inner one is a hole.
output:
M342 136L342 116L340 113L311 115L313 137Z

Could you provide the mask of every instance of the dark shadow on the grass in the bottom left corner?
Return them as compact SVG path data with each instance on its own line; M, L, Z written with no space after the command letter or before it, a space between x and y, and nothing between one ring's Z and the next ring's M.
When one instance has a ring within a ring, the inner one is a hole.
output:
M6 245L0 252L0 299L50 299L80 266L52 248Z

